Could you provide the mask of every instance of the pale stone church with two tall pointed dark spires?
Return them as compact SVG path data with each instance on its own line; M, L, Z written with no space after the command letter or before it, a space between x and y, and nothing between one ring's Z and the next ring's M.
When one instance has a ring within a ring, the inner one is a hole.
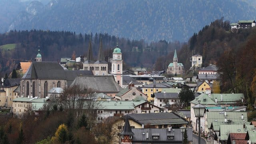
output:
M108 63L104 60L102 51L102 38L100 39L100 49L98 53L98 59L95 62L92 55L92 43L91 39L88 44L88 59L83 63L83 70L91 70L96 76L108 75Z

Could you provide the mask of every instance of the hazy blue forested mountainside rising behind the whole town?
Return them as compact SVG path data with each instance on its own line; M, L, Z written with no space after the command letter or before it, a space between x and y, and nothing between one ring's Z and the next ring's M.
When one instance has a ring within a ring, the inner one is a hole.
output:
M0 1L7 7L9 3ZM250 0L51 0L46 5L33 1L22 8L22 12L17 11L20 13L0 23L0 32L106 32L131 40L184 42L217 18L231 22L256 18L256 8ZM0 13L0 18L2 15L5 13Z

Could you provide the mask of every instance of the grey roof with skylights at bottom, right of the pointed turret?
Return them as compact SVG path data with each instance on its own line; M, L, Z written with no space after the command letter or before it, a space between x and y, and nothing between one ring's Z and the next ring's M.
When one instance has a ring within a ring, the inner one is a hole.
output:
M192 128L186 128L188 141L192 142ZM168 131L168 128L132 128L134 136L133 142L161 142L161 144L181 144L182 134L179 128L173 128ZM146 133L148 132L148 138ZM159 136L158 139L153 139L152 136ZM174 136L173 139L168 139L168 136ZM144 144L144 143L143 143Z

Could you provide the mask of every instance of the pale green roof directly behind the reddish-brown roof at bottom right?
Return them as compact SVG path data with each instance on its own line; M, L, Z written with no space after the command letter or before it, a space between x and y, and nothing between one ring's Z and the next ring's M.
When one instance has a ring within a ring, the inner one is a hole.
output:
M246 134L252 128L254 128L253 125L247 125L246 128L243 125L220 125L220 140L228 140L229 135L227 134L230 133Z

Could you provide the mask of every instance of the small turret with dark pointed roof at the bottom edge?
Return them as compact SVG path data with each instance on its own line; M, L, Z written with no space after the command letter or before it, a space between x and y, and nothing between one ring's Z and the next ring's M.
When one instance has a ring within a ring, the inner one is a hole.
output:
M134 133L132 132L132 129L130 127L129 120L126 116L126 120L124 123L124 129L120 133L121 136L121 143L122 144L132 144L132 136L134 136Z

